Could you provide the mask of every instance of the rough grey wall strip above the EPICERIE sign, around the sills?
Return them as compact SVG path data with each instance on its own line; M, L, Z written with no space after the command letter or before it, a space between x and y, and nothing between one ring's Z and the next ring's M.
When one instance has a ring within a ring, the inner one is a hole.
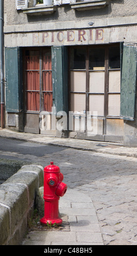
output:
M109 5L101 9L86 11L75 11L69 4L60 5L53 14L27 16L22 10L17 11L15 0L4 1L4 24L21 25L45 22L63 22L63 21L84 21L86 19L106 19L109 17L132 16L136 14L137 6L134 0L110 0Z

